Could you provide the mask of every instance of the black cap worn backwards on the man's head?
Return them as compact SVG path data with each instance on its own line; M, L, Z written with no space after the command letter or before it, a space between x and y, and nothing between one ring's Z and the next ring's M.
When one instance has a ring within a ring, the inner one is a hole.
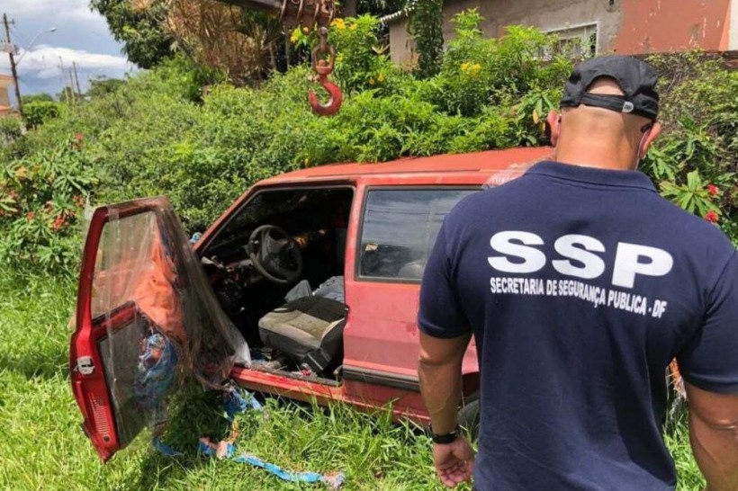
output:
M625 95L587 93L592 82L600 76L614 78ZM569 76L561 105L577 107L580 104L655 120L659 113L656 72L651 65L637 58L614 55L584 60Z

